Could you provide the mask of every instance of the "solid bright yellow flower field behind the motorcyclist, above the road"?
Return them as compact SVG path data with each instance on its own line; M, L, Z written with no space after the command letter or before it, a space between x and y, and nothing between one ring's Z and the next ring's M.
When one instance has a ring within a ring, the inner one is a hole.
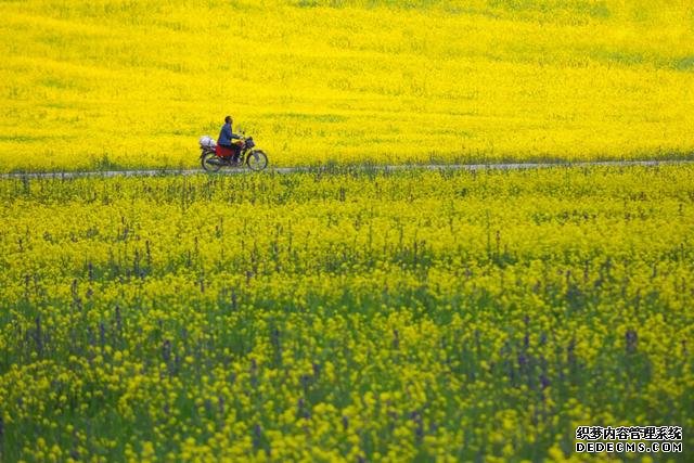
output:
M682 158L686 0L0 2L0 170Z

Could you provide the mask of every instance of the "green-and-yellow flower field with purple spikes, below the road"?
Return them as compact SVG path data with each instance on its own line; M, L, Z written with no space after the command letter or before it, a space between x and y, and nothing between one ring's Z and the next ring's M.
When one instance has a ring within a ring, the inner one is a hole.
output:
M0 181L0 460L685 461L693 177Z

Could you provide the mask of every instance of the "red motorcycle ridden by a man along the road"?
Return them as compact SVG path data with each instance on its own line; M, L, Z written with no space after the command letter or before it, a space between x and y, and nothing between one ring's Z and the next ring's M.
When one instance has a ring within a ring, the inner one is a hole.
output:
M268 155L253 141L253 137L234 140L239 151L239 160L233 162L233 150L226 146L217 146L217 143L209 136L200 139L200 162L208 172L217 172L224 166L243 167L246 165L250 170L260 171L268 167Z

